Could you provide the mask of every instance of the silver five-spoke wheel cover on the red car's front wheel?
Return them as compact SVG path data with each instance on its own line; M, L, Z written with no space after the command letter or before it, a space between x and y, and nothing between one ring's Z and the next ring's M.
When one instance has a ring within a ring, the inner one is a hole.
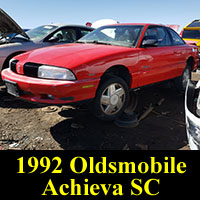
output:
M123 107L125 98L125 90L122 85L113 83L102 92L100 107L106 115L114 115Z

